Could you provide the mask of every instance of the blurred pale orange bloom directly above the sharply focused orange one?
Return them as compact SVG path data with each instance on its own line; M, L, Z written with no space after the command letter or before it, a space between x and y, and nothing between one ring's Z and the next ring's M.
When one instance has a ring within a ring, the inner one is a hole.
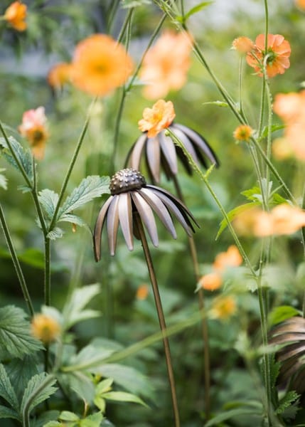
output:
M148 83L144 96L151 100L166 97L170 90L179 90L186 83L191 65L192 44L185 33L164 31L155 45L146 53L140 72Z

